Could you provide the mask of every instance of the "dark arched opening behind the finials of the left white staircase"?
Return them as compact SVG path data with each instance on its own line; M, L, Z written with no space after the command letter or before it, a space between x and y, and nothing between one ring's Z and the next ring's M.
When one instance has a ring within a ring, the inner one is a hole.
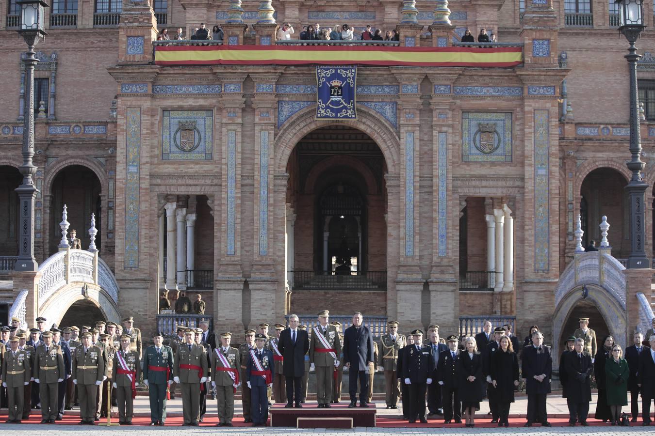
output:
M100 193L102 185L98 176L91 169L83 165L69 165L64 167L52 180L50 187L50 237L48 250L50 254L57 252L57 246L62 239L59 223L62 220L62 209L67 206L69 231L75 229L77 238L81 239L83 248L87 248L90 239L91 214L96 214L96 247L101 250L102 229L102 201Z

